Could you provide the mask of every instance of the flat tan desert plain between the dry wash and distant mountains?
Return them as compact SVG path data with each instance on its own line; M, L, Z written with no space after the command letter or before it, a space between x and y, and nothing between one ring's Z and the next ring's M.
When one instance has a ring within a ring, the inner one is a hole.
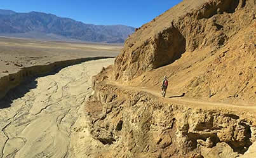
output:
M123 46L0 37L0 77L25 67L95 56L116 56Z

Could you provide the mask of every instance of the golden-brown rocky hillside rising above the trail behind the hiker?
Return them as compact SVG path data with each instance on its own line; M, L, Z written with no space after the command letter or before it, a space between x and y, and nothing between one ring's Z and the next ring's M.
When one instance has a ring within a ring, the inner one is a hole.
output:
M115 79L159 86L166 75L172 91L187 96L255 103L254 6L252 0L182 1L126 40Z

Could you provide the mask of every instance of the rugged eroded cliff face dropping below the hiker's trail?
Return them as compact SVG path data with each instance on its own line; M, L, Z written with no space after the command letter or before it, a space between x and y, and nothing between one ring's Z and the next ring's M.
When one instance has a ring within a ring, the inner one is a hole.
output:
M104 157L238 157L255 142L253 117L163 103L101 78L86 111Z

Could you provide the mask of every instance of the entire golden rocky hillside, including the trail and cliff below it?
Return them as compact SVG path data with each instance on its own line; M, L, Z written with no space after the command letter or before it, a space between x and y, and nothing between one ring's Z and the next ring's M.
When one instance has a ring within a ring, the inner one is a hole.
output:
M254 5L184 0L128 37L94 77L88 155L255 157Z

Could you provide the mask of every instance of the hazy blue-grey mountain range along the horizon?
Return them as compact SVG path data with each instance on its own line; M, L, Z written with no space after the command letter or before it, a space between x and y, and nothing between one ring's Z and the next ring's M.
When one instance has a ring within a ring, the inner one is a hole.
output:
M124 43L134 30L134 27L125 25L86 24L36 11L16 13L0 10L0 36Z

